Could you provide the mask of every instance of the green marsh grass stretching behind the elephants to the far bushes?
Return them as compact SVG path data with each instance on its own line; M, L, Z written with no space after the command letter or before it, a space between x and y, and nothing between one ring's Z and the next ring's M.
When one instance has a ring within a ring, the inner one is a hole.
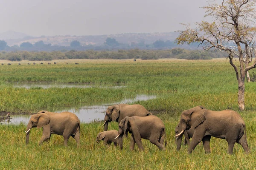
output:
M64 105L75 107L84 102L118 102L136 94L156 94L157 99L141 102L156 111L182 111L198 104L214 110L232 105L234 110L238 110L236 75L225 59L85 60L79 65L1 65L0 72L0 107L9 112L36 112L42 108L52 110ZM26 81L90 83L95 87L27 90L12 86L12 83ZM105 85L125 87L99 87ZM249 110L255 110L254 87L254 83L246 84L245 102Z

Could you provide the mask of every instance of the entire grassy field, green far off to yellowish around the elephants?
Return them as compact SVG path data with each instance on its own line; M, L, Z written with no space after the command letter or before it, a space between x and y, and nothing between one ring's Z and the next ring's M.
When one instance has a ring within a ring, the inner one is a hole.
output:
M0 61L1 62L1 61ZM3 61L2 61L3 62ZM51 61L53 63L53 61ZM63 146L63 136L52 135L50 141L38 145L41 128L32 128L26 146L26 125L0 125L0 169L29 170L183 170L183 169L255 169L256 168L256 82L245 83L245 111L237 102L238 84L233 67L226 59L191 61L159 60L71 60L56 65L0 65L0 111L37 113L55 111L63 106L79 107L86 102L115 102L137 94L154 94L155 99L136 101L160 117L166 127L167 147L160 151L142 139L144 151L137 145L129 150L131 135L124 138L124 148L96 143L103 131L103 121L81 123L80 147L71 137ZM68 64L66 64L68 62ZM75 62L79 62L75 65ZM256 70L251 70L250 75ZM17 82L84 83L91 88L15 88ZM112 86L121 88L110 88ZM131 104L131 103L130 103ZM235 144L233 155L227 153L227 142L212 137L211 153L205 154L202 144L192 154L188 146L176 151L175 127L183 110L203 105L214 111L230 106L246 123L247 142L251 153L246 155ZM116 122L108 130L118 130Z

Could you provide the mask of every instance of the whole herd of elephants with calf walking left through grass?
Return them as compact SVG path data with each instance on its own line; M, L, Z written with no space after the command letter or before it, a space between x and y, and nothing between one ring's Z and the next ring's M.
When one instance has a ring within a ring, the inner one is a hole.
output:
M119 130L108 130L108 123L116 121ZM131 133L130 150L134 150L137 143L139 150L143 150L141 139L148 139L160 150L166 149L166 129L163 121L152 115L142 105L119 104L109 106L104 119L104 131L98 133L96 142L119 145L122 150L123 135ZM64 145L72 136L80 144L80 121L70 112L52 113L40 111L32 115L26 128L26 144L29 143L29 131L32 127L43 127L43 136L39 144L50 139L51 134L64 137ZM241 144L245 153L250 153L247 144L245 123L241 116L232 110L210 111L203 106L196 106L181 113L180 122L175 128L177 150L180 150L183 135L185 144L189 144L188 153L192 153L197 144L203 142L205 153L210 153L209 142L211 136L226 139L228 153L233 154L235 143ZM189 142L189 139L192 141Z

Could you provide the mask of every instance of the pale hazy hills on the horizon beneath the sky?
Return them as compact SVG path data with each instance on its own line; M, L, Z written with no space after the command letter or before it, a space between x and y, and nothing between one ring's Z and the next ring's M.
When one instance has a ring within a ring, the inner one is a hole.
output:
M125 34L110 34L110 35L87 35L87 36L41 36L41 37L30 37L23 33L17 33L15 31L6 31L0 34L0 39L5 40L7 45L20 45L23 42L30 42L35 44L38 41L44 41L45 44L58 45L58 46L69 46L70 42L77 40L81 45L101 45L105 40L115 38L119 43L129 44L131 43L143 43L152 44L157 40L170 40L173 41L178 36L177 32L167 33L125 33Z

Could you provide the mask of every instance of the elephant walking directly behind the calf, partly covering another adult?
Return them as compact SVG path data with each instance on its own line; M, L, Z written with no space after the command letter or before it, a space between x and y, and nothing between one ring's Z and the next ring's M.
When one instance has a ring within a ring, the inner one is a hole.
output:
M141 139L148 139L152 144L157 145L160 150L165 150L163 145L165 139L165 126L160 118L149 115L145 117L140 116L126 116L119 123L119 143L122 150L122 136L125 133L131 133L130 150L134 150L134 145L137 143L139 150L143 150ZM165 145L166 145L165 141Z

